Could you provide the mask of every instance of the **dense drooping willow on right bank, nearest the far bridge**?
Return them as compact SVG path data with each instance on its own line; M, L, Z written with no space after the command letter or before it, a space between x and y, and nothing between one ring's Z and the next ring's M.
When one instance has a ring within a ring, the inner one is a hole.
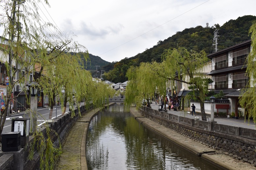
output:
M126 87L125 103L127 105L136 104L139 107L142 101L153 98L156 90L160 95L165 96L166 78L159 76L163 72L163 67L159 63L141 63L139 67L130 67L127 71L128 85Z

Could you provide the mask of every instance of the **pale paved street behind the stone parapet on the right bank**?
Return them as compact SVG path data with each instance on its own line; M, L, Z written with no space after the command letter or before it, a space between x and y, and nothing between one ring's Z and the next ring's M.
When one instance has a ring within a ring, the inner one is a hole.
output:
M158 110L158 104L152 103L150 104L151 108L154 110ZM190 113L187 112L182 112L182 111L173 111L168 110L167 108L167 113L171 113L173 115L177 116L183 116L183 117L188 117L188 118L194 118L195 116L191 115ZM197 117L200 117L200 120L202 120L201 114L196 114ZM211 120L211 116L207 115L209 117L209 120ZM207 120L208 121L208 120ZM224 125L229 125L229 126L236 126L236 127L242 127L242 128L247 128L247 129L256 129L256 125L253 123L253 120L250 120L248 122L248 119L246 119L246 122L244 122L244 118L239 118L239 119L234 119L234 118L227 118L227 117L214 117L214 121L216 121L218 124L224 124Z

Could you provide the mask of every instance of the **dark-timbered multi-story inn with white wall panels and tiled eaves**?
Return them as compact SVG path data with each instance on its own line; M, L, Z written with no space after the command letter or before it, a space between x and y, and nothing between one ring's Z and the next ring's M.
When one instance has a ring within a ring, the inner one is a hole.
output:
M217 94L223 91L225 97L230 98L230 113L244 113L243 107L239 106L238 98L240 89L248 82L245 71L247 68L246 57L251 51L251 40L226 48L208 55L212 59L212 89Z

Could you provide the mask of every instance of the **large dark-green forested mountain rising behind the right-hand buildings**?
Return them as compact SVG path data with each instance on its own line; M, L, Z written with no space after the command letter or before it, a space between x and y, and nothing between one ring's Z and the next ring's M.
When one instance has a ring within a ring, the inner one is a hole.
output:
M186 28L181 32L176 32L173 36L161 41L157 44L130 58L124 58L118 62L112 62L103 67L109 70L104 75L104 79L117 82L125 82L127 80L126 71L131 66L138 66L140 62L161 62L161 55L165 49L185 47L188 50L197 52L204 50L207 54L213 53L213 36L214 31L218 29L218 50L225 49L235 44L250 39L248 35L252 22L256 20L256 16L245 15L238 17L236 20L229 20L222 26L214 24L213 27L197 26L195 28Z

